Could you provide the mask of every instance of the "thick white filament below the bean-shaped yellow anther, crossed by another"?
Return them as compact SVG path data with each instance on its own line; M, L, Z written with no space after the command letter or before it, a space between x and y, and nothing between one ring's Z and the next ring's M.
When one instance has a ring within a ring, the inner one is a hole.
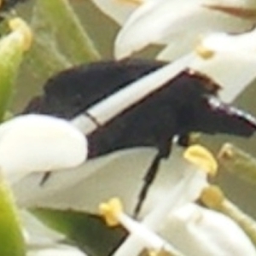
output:
M187 166L183 171L183 177L177 184L169 185L165 195L162 194L158 201L155 201L158 203L155 203L151 212L143 218L143 224L150 230L159 231L169 212L195 201L201 195L201 190L207 185L206 173L196 171L194 166L189 166L189 168ZM170 243L172 244L172 241ZM143 250L143 247L143 242L139 241L137 236L131 235L118 248L114 256L137 255Z

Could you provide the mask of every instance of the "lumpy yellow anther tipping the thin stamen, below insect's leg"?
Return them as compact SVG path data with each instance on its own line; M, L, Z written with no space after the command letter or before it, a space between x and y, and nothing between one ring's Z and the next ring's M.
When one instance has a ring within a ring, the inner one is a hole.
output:
M100 204L99 211L108 226L113 227L119 224L119 216L123 212L123 207L119 198L114 197Z

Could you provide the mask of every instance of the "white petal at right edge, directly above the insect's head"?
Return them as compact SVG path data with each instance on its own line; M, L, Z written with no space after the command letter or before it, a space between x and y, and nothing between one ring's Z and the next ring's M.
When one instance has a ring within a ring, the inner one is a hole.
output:
M201 47L212 51L212 57L197 57L189 67L223 86L219 96L232 102L256 77L255 38L256 31L236 36L212 34L201 43Z

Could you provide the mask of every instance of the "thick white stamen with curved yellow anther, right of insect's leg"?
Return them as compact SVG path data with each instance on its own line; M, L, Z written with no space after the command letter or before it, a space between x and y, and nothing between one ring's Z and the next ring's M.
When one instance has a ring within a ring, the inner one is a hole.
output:
M201 146L192 146L185 152L184 157L189 159L193 166L188 166L183 171L183 177L177 183L172 185L170 183L166 191L157 201L154 201L154 207L143 218L143 224L150 230L159 231L170 212L195 201L201 195L202 189L207 186L207 173L216 172L217 165L212 154ZM200 166L200 171L195 164ZM137 255L143 247L143 242L138 241L137 236L131 234L114 253L114 256Z

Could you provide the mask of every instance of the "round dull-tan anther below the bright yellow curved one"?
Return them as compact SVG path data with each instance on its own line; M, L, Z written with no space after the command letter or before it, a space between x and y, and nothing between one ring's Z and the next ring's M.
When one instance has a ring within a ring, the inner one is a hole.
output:
M224 201L224 194L218 186L209 186L201 192L201 201L210 208L221 207Z

